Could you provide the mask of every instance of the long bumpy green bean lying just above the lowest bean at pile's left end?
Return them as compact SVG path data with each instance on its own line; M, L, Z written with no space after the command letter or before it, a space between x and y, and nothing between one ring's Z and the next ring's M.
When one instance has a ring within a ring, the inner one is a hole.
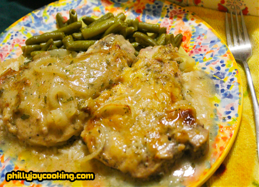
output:
M65 37L63 32L52 32L52 33L44 33L42 35L33 36L25 41L26 45L34 45L47 42L49 39L53 40L62 40Z

